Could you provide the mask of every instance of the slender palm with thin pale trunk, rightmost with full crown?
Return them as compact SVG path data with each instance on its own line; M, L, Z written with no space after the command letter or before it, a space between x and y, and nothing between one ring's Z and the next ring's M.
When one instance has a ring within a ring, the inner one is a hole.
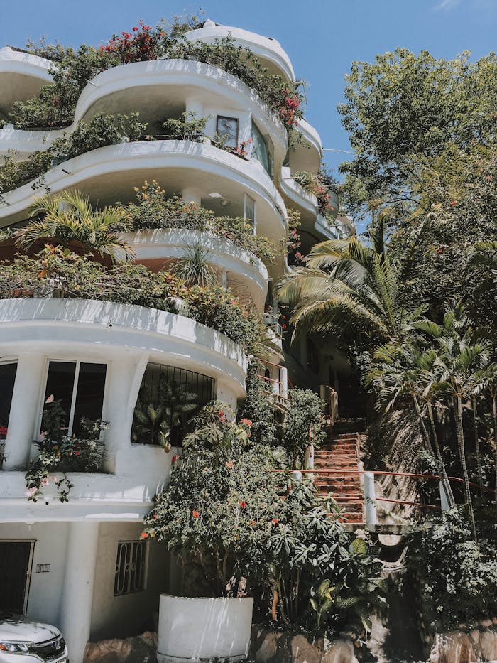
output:
M469 512L469 520L476 540L476 526L469 488L469 474L466 465L462 404L470 400L479 390L482 382L481 370L490 361L489 346L485 340L475 340L471 320L461 303L448 308L442 325L432 320L420 320L415 328L426 333L437 343L437 377L440 388L450 394L456 428L457 448L464 482L464 497Z

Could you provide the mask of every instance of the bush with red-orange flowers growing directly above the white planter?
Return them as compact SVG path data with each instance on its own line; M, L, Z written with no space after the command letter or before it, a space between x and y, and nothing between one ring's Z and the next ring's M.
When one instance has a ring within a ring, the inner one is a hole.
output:
M187 595L244 595L242 578L254 578L263 565L280 481L263 450L251 447L250 428L249 421L236 424L226 404L204 407L144 520L142 538L186 556Z

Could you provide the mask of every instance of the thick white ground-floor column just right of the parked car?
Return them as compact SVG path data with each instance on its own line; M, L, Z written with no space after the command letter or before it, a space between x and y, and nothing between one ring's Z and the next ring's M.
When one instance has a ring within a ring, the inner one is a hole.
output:
M59 621L71 663L82 663L89 640L98 540L98 522L70 522Z

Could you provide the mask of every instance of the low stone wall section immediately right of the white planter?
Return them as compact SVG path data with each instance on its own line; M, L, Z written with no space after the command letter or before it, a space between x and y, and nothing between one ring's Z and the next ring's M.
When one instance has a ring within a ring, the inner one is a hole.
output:
M351 640L308 642L304 635L254 626L249 659L256 663L358 663Z

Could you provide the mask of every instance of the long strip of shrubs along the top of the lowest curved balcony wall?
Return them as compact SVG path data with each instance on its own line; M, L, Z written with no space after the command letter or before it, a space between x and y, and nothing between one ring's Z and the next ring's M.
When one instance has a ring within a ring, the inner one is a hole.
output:
M216 329L255 354L263 352L266 328L261 316L249 312L223 288L188 288L173 274L155 274L140 264L120 263L105 269L69 249L45 247L33 258L17 257L2 264L0 297L45 296L59 291L67 298L137 304L175 310L175 298L185 303L185 315Z

